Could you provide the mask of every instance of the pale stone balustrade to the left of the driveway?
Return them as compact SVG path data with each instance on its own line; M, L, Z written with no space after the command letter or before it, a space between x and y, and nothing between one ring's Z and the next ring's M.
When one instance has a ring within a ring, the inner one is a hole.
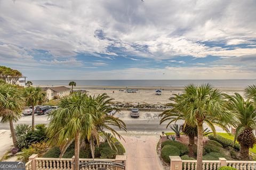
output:
M29 157L29 161L26 163L26 170L74 170L74 156L73 158L38 158L37 154L33 154ZM99 164L83 167L84 170L94 170L98 168L119 170L121 168L111 166L112 163L126 165L126 156L117 155L115 159L79 159L80 163L98 162ZM102 162L102 164L100 164ZM103 162L105 164L103 164ZM109 164L107 164L109 163Z

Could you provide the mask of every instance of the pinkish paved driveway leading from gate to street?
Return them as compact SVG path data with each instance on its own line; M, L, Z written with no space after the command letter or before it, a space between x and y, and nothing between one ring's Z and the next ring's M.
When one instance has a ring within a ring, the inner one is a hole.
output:
M127 132L122 133L121 141L127 156L128 170L162 170L163 166L156 152L158 133Z

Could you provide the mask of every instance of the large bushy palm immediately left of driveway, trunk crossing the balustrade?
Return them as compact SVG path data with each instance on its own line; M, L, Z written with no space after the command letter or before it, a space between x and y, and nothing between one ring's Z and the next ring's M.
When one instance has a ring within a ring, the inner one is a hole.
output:
M60 146L61 157L70 143L75 141L75 169L79 168L79 141L81 139L82 142L86 139L86 142L90 143L94 157L94 147L95 143L98 145L100 132L107 135L104 131L107 129L121 137L109 125L126 130L121 120L107 115L110 110L109 101L111 99L108 99L106 94L92 97L78 92L78 94L61 98L59 108L49 114L49 142ZM111 143L111 140L108 142Z

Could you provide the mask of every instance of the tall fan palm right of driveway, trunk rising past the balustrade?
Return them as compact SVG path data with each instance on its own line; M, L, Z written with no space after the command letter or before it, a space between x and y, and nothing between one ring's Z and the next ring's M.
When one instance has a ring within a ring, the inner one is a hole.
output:
M203 124L207 124L215 134L214 124L227 130L227 126L234 120L232 113L225 110L223 94L210 84L185 87L184 94L176 96L175 109L182 111L184 120L197 125L197 168L202 170L203 162Z

